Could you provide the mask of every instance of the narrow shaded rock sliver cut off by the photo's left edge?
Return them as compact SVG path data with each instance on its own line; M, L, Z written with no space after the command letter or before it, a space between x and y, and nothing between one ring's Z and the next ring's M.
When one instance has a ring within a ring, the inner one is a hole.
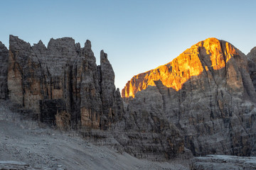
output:
M8 97L7 89L7 72L8 72L8 55L9 51L0 41L0 98Z

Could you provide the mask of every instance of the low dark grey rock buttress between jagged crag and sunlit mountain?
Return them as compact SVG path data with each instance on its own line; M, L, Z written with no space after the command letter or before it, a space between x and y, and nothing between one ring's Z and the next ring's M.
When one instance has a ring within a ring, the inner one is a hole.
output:
M124 120L113 130L124 151L154 161L184 153L181 132L167 121L159 91L149 86L137 96L126 107Z

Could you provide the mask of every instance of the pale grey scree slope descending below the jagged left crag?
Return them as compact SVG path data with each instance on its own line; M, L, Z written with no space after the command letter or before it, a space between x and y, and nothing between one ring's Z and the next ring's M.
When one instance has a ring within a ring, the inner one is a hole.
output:
M40 128L0 102L0 169L188 169L189 160L149 162L96 146L76 132Z

